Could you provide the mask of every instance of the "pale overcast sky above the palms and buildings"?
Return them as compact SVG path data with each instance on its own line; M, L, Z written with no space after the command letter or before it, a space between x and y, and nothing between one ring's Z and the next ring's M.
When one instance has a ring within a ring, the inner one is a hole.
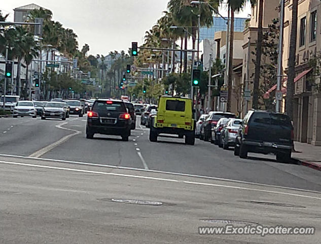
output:
M37 4L53 12L53 20L78 35L79 47L90 46L90 54L108 54L110 51L127 52L131 42L141 45L145 32L163 15L169 0L0 0L0 10L10 14L13 9ZM225 8L220 13L226 16ZM247 17L251 7L237 17Z

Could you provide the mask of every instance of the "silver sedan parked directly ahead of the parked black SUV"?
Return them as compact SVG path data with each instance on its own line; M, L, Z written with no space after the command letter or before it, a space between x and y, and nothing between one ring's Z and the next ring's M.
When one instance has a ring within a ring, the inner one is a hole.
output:
M221 131L221 145L223 149L229 149L230 146L235 145L235 138L239 127L241 126L242 119L231 118L226 126Z

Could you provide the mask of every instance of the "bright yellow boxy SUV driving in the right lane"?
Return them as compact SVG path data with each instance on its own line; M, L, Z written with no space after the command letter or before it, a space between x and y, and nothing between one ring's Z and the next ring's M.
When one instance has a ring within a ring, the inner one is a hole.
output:
M161 96L158 100L157 115L152 118L150 141L156 142L159 134L185 136L185 143L195 143L195 120L192 100L182 97Z

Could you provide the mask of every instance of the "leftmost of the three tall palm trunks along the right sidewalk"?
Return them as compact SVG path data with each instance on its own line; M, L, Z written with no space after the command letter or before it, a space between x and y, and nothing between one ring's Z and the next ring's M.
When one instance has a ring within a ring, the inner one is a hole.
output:
M227 111L231 111L232 103L232 74L233 74L233 46L234 46L234 9L231 8L231 32L230 32L230 51L229 56L229 70L228 70L228 99L227 99Z

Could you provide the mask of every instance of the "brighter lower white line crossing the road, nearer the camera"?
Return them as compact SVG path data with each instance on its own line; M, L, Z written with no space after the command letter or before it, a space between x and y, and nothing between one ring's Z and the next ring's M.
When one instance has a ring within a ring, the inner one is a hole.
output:
M20 165L20 166L28 166L28 167L37 167L37 168L47 168L47 169L75 171L75 172L86 172L86 173L93 173L93 174L114 175L114 176L130 177L130 178L141 178L141 179L153 179L153 180L160 180L160 181L180 182L180 183L184 183L184 184L193 184L193 185L199 185L199 186L222 187L222 188L247 190L247 191L256 191L256 192L265 192L265 193L272 193L272 194L279 194L279 195L287 195L287 196L295 196L295 197L311 198L311 199L321 200L321 197L300 195L300 194L287 193L287 192L269 191L269 190L247 188L247 187L225 186L225 185L210 184L210 183L203 183L203 182L197 182L197 181L167 179L167 178L141 176L141 175L131 175L131 174L109 173L109 172L83 170L83 169L73 169L73 168L62 168L62 167L45 166L45 165L14 163L14 162L7 162L7 161L0 161L0 163L2 163L2 164L11 164L11 165Z

